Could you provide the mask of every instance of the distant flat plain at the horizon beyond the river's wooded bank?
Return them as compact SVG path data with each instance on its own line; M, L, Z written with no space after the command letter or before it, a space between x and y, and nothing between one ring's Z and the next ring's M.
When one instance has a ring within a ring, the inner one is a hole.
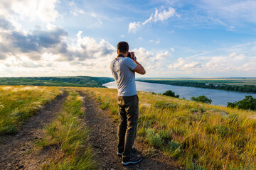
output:
M143 80L143 79L142 79ZM171 80L171 81L190 81L205 84L228 84L228 85L256 85L256 78L220 78L220 79L146 79L146 80Z

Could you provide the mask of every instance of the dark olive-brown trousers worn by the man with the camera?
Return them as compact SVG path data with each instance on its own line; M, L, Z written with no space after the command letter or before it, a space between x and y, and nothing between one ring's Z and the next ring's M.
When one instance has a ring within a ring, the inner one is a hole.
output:
M118 152L123 157L132 156L132 146L137 133L139 118L139 98L134 96L118 96L119 125L118 125Z

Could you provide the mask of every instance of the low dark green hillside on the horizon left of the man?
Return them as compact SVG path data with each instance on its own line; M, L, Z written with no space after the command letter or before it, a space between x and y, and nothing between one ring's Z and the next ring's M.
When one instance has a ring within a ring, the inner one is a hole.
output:
M80 86L102 87L102 84L114 81L108 77L6 77L0 78L0 85L32 86Z

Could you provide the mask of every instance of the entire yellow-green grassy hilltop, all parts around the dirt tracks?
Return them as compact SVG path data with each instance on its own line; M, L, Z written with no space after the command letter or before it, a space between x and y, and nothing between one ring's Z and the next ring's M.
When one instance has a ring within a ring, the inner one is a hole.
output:
M0 86L1 133L16 132L22 121L63 92L58 87ZM85 91L118 120L117 90L65 88L63 111L46 127L38 147L59 145L61 154L43 169L95 169L88 130L82 123ZM137 140L183 164L186 169L256 169L256 113L138 92ZM151 150L153 150L151 149Z

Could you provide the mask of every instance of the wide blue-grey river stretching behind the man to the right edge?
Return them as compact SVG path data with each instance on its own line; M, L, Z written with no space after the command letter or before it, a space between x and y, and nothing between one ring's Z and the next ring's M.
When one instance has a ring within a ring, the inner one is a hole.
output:
M107 86L107 88L117 89L117 85L114 81L103 84L103 86ZM240 93L235 91L223 91L223 90L215 90L215 89L202 89L196 87L188 87L188 86L173 86L167 84L152 84L145 83L142 81L136 81L137 91L154 91L155 93L162 94L165 91L171 90L174 91L175 94L179 95L180 98L190 99L192 96L206 96L212 99L212 105L215 106L227 106L228 102L240 101L245 98L245 95L251 95L253 98L256 98L256 94L249 93Z

